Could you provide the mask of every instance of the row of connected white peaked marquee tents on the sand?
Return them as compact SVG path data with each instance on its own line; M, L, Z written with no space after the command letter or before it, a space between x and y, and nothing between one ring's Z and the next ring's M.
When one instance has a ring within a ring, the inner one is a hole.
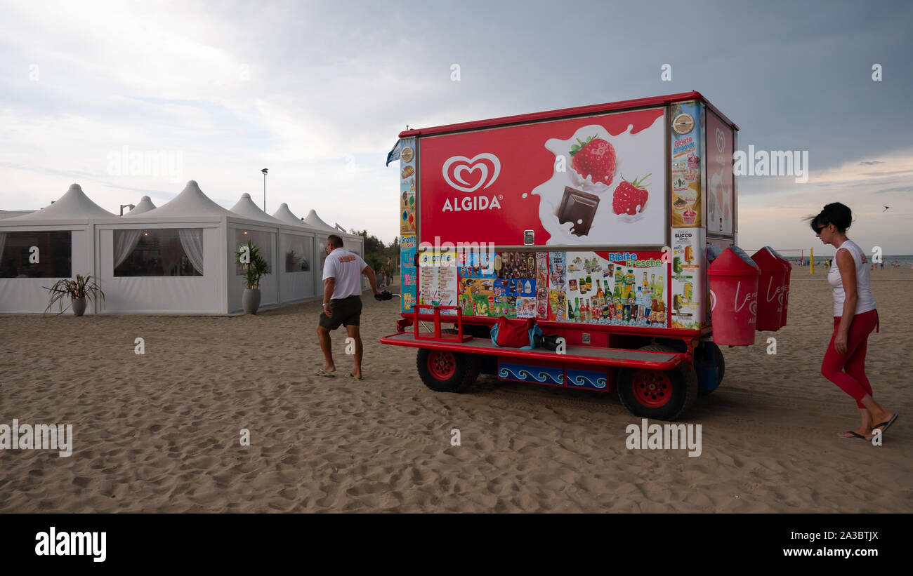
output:
M261 308L320 297L315 262L331 232L313 229L285 204L277 215L261 211L247 194L226 210L191 180L172 201L156 208L143 197L119 217L74 185L42 211L0 220L0 312L43 312L47 305L47 291L40 286L56 282L56 276L45 271L41 278L15 277L21 275L17 264L28 255L23 242L32 242L39 232L53 235L40 244L42 256L52 252L56 258L43 259L46 268L56 265L57 273L66 272L62 277L91 273L99 283L105 293L95 311L100 314L241 312L244 271L235 253L247 240L269 262L270 273L260 282ZM32 236L12 233L20 231ZM323 242L315 242L318 234ZM362 253L361 240L350 237L347 247ZM11 249L4 252L7 241Z

